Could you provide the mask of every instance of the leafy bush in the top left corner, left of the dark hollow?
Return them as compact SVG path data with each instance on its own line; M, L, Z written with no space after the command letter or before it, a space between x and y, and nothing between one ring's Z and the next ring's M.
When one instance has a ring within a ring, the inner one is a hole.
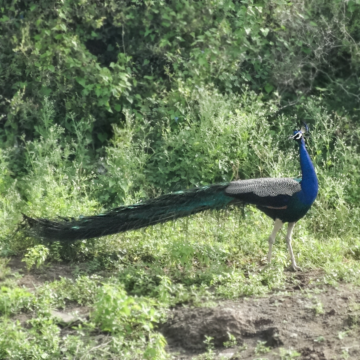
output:
M2 105L8 116L3 142L12 144L13 136L23 131L32 138L44 96L56 100L56 122L71 132L72 114L79 122L92 113L101 119L112 108L121 109L109 102L131 89L127 57L120 55L109 67L100 66L85 46L87 40L96 38L94 30L103 24L103 11L106 8L96 2L79 6L72 1L5 4L1 73L11 81L4 82L1 91L6 94ZM101 130L98 135L100 141L106 138Z

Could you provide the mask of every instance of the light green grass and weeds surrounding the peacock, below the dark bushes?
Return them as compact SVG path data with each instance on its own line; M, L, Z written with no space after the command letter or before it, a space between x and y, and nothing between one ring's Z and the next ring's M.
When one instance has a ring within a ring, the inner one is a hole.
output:
M155 128L137 123L141 131L135 133L133 119L128 118L131 126L118 129L112 147L105 149L108 157L101 171L94 171L98 164L87 157L81 134L76 143L66 142L64 129L52 123L51 111L44 112L42 138L24 145L24 171L17 173L16 181L10 176L15 168L12 153L0 152L0 358L166 359L165 339L155 327L171 306L204 306L220 298L264 296L274 288L298 285L294 273L286 271L290 265L286 229L279 232L266 265L273 221L253 207L208 211L73 244L40 244L15 233L21 212L50 218L93 214L101 206L157 194L161 184L166 189L174 179L191 186L201 185L201 179L298 175L296 148L283 140L291 133L293 119L283 116L274 121L276 132L269 130L264 118L257 119L254 109L262 115L266 110L254 94L247 103L253 111L241 114L241 124L232 103L240 101L236 96L226 99L217 94L222 112L216 116L205 114L211 94L205 92L201 99L200 125L193 119L192 126L189 118L179 131L171 131L165 124L158 144L152 138ZM51 110L47 100L44 106ZM313 100L307 111L314 115L319 104ZM335 126L333 118L323 114L316 123L308 147L320 192L293 233L298 265L318 269L309 281L319 285L340 281L360 285L359 154L356 147L347 146L349 132L336 135L344 122L338 118ZM91 123L82 126L86 131ZM324 131L329 128L332 131ZM239 136L234 139L234 134ZM180 141L184 136L191 146ZM145 148L156 144L153 155L145 156ZM202 173L204 164L211 166ZM141 173L136 174L138 167ZM184 169L188 171L181 175ZM149 184L147 174L154 184ZM25 259L28 273L11 273L7 264L11 255ZM20 285L24 276L47 274L56 264L71 269L71 276L28 288ZM59 326L53 310L73 308L84 309L86 316ZM314 311L320 314L321 304L314 303ZM358 309L354 307L351 316L357 324ZM280 355L290 359L297 353L283 350Z

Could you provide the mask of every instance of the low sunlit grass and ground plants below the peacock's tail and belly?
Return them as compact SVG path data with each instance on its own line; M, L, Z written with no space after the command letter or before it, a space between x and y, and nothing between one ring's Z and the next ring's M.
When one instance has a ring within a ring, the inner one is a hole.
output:
M271 221L251 211L247 221L239 221L239 211L210 212L103 238L92 261L81 270L72 267L73 279L44 283L33 291L19 287L19 279L9 275L4 263L2 356L75 359L81 352L82 359L109 354L119 354L118 359L165 359L165 340L153 324L164 319L169 306L203 306L204 301L264 295L271 288L295 284L292 273L284 271L290 265L284 233L275 243L273 261L264 267L264 228L269 232ZM305 226L306 219L299 225ZM359 284L360 264L349 256L345 243L338 238L325 243L311 235L294 236L300 266L323 269L313 279L318 284L342 280ZM64 331L52 310L68 311L74 305L91 309L90 316ZM316 302L314 309L321 312ZM21 313L27 316L24 323L16 320ZM104 334L100 342L95 336L99 332Z

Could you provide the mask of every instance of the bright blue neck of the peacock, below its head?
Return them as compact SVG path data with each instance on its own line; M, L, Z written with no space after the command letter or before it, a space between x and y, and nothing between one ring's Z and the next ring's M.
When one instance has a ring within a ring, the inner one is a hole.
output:
M314 165L305 148L305 141L302 138L299 143L300 166L302 172L301 191L298 193L299 200L306 205L311 205L318 194L318 178L315 174Z

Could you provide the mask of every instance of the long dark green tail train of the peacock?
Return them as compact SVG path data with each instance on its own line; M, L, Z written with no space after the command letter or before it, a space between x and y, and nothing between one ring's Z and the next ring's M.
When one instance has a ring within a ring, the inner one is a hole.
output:
M140 229L208 209L224 208L233 201L231 196L225 194L228 185L229 183L215 184L166 194L78 220L33 219L23 216L31 236L51 241L72 242Z

